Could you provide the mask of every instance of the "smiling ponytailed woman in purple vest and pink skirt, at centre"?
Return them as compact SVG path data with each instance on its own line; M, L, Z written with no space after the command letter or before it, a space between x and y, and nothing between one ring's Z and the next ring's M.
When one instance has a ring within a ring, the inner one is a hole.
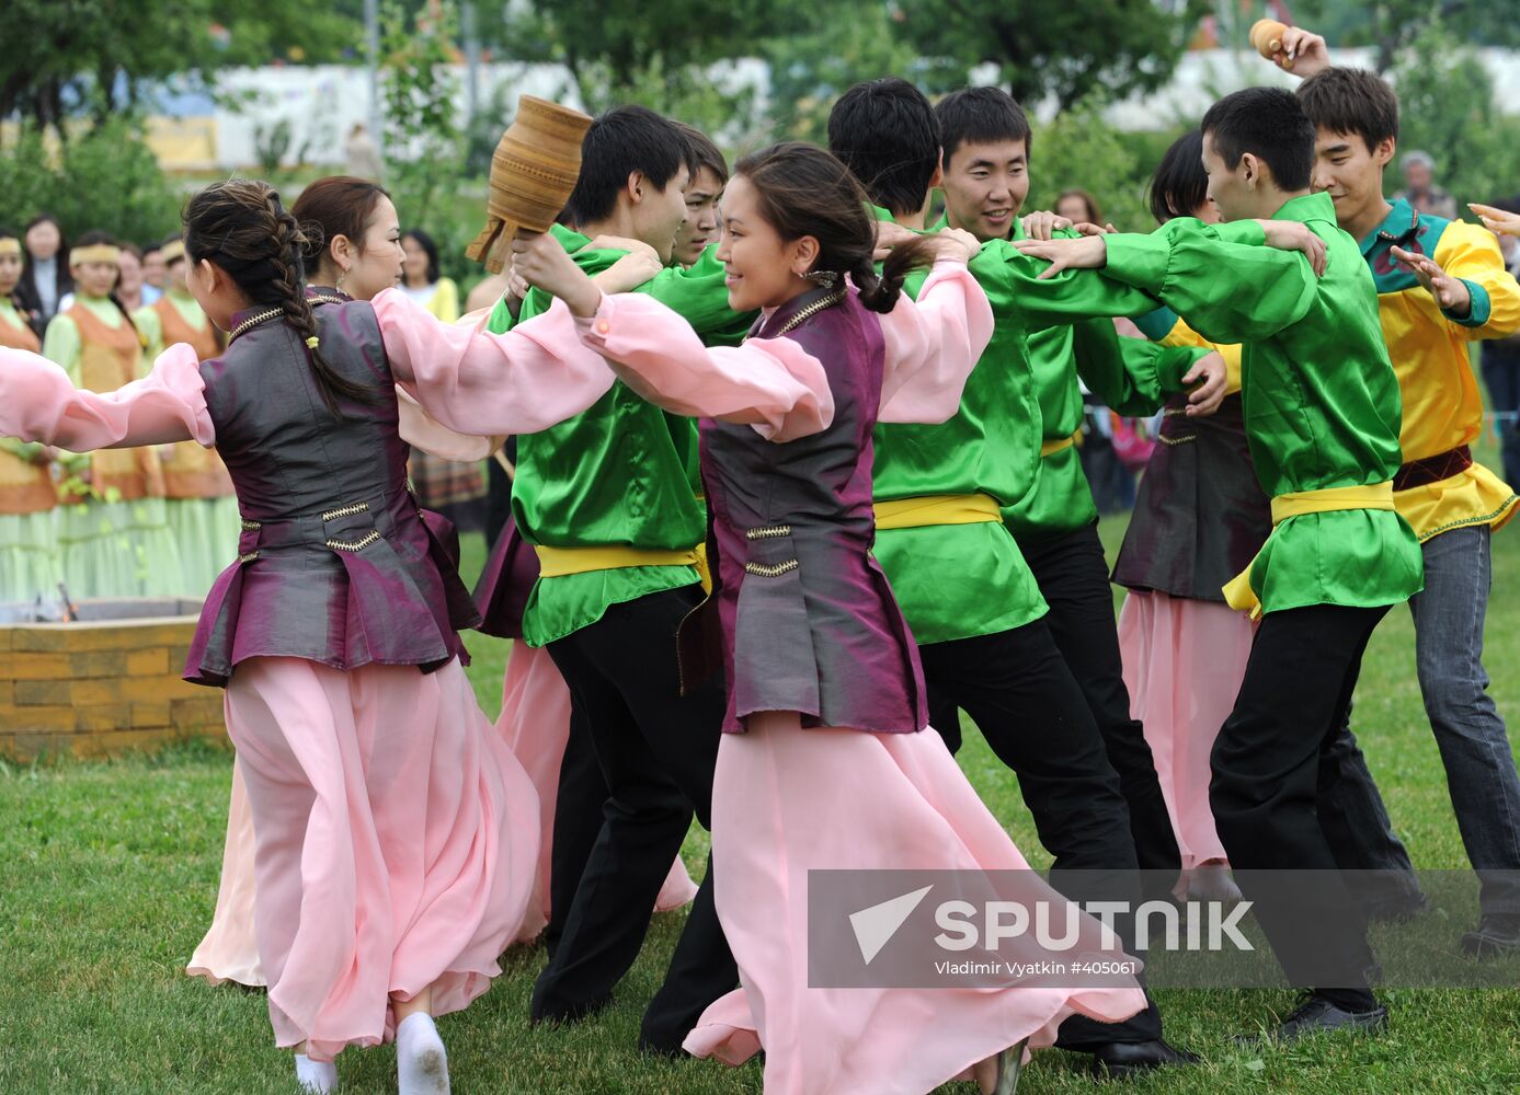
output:
M625 383L702 416L714 592L682 627L681 680L720 650L713 870L742 989L686 1048L730 1062L763 1048L768 1092L923 1095L971 1072L1006 1095L1024 1040L1049 1043L1073 1010L1117 1021L1145 1007L1132 981L809 986L810 870L1026 867L939 735L923 732L915 645L869 554L874 424L953 415L991 337L965 269L976 248L941 232L877 276L859 185L827 152L780 144L742 161L724 199L730 302L763 310L739 348L704 348L654 299L600 295L562 255L518 257ZM930 255L915 305L901 281Z

